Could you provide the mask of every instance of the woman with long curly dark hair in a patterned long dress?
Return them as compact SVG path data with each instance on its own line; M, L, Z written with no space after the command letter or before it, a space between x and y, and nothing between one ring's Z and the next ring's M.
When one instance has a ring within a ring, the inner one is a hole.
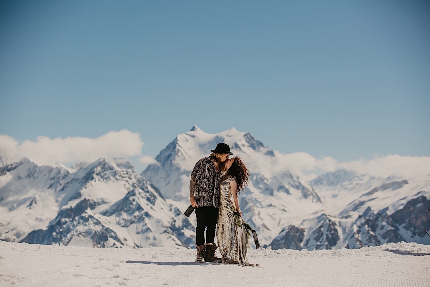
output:
M227 160L220 185L220 207L217 219L217 243L222 263L250 266L247 250L250 247L249 228L242 219L237 195L245 188L249 170L240 157ZM248 225L249 227L249 225Z

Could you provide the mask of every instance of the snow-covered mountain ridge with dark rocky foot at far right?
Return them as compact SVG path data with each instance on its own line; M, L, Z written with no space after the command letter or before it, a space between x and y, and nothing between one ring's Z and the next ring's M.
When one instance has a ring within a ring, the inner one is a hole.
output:
M338 194L335 200L343 198L344 207L332 205L331 210L325 210L332 215L322 213L303 220L297 227L286 226L268 245L314 250L361 248L399 241L430 244L425 233L430 229L427 210L430 176L390 181L393 179L357 175L346 170L317 177L311 184L323 200ZM363 186L367 189L363 190Z

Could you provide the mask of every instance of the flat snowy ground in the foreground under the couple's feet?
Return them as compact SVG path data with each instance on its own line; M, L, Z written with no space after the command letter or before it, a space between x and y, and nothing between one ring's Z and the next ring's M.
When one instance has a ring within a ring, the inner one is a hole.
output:
M249 251L261 268L195 263L195 252L0 241L0 286L430 286L430 247L416 243Z

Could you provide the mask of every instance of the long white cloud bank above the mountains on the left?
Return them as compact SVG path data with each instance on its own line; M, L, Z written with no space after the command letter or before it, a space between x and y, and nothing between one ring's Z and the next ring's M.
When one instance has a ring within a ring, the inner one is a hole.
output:
M110 131L95 139L38 136L36 142L25 140L21 144L10 136L0 135L2 157L8 154L7 158L12 160L28 157L37 165L94 161L100 157L131 157L141 155L143 145L140 134L129 130Z

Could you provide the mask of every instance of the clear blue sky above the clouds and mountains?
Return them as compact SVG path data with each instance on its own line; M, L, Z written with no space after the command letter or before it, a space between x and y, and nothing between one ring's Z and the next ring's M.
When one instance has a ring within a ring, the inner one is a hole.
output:
M430 155L428 1L2 1L0 133L196 124L337 160Z

